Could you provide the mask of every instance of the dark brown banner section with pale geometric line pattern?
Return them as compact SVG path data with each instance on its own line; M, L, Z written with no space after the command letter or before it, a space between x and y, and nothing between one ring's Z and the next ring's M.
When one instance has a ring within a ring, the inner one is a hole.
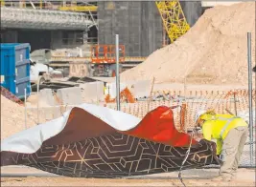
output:
M15 154L8 159L67 177L130 177L177 171L187 150L116 133L67 145L42 146L35 154ZM191 148L183 169L219 164L215 152L214 142L200 140Z

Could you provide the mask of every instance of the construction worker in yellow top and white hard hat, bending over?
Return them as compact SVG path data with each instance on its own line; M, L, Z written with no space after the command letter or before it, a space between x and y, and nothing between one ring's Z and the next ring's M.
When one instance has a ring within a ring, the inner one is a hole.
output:
M217 156L222 164L219 176L213 180L235 179L248 134L248 124L232 114L216 114L214 111L198 111L196 123L202 129L203 138L217 139Z

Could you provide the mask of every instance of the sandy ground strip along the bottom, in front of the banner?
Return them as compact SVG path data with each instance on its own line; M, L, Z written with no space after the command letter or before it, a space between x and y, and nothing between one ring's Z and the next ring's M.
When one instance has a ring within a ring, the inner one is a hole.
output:
M240 168L232 182L213 182L219 169L192 169L182 172L186 186L255 186L255 169ZM178 172L126 178L61 177L29 168L12 166L1 168L1 186L183 186Z

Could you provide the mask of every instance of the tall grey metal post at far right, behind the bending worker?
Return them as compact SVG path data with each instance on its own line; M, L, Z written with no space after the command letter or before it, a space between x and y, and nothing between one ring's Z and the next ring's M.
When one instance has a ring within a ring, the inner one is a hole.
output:
M252 113L252 67L251 67L251 32L247 32L247 62L248 62L248 96L249 96L249 137L250 165L253 165L253 113Z

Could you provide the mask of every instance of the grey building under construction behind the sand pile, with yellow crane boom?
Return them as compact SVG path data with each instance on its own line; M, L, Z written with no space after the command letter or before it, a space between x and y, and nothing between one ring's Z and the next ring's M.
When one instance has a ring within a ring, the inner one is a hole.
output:
M58 52L52 61L113 65L118 33L120 61L139 63L188 31L207 7L194 1L1 0L1 42L30 43L32 52L79 48L75 55Z

